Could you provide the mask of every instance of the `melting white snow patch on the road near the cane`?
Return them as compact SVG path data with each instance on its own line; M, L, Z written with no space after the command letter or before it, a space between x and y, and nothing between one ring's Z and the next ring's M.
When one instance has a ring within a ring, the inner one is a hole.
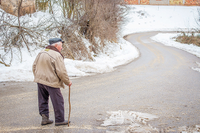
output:
M148 121L158 118L155 115L134 112L134 111L110 111L107 112L110 117L104 121L101 126L115 126L115 133L137 132L149 133L158 132L158 129L153 128L148 124ZM113 130L113 129L112 129ZM107 131L112 133L113 131ZM113 133L114 133L113 132Z

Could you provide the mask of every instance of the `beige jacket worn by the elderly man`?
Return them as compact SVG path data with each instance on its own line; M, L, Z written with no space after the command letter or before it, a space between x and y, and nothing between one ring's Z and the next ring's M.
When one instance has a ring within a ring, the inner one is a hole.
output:
M69 77L61 54L46 49L41 51L33 63L34 82L54 88L64 88L69 85Z

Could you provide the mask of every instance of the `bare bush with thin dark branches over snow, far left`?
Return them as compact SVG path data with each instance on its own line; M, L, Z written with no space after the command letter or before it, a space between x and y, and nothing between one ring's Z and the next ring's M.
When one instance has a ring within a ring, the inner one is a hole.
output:
M38 45L41 40L41 25L31 26L30 20L20 17L20 7L18 7L18 17L12 16L4 11L0 11L0 48L4 52L0 54L0 63L10 66L13 60L13 48L18 49L20 60L22 61L21 49L26 47L31 54L30 46ZM10 61L5 59L10 58Z

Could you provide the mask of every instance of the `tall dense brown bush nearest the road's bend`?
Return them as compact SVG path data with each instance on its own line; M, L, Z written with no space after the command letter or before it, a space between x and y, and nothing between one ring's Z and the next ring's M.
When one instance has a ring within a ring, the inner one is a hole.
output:
M84 14L80 32L92 43L92 51L98 53L104 41L117 41L117 33L123 20L122 0L84 0ZM95 38L99 38L101 45Z

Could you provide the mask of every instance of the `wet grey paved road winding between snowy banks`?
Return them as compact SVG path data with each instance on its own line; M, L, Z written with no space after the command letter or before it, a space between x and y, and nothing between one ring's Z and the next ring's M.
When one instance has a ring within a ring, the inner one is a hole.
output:
M35 83L0 83L0 132L117 132L100 125L106 111L118 110L157 115L149 124L163 132L200 125L200 73L191 69L200 59L150 40L156 34L127 37L141 52L135 61L111 73L72 80L70 127L40 126ZM67 118L68 89L62 92Z

